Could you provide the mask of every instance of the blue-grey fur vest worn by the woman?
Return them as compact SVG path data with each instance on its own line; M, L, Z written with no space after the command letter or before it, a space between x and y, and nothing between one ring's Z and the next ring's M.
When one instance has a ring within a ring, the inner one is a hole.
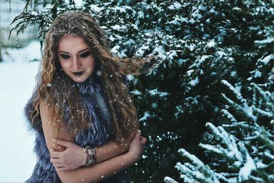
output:
M124 78L125 79L125 78ZM99 146L114 136L114 129L108 107L105 105L105 97L101 92L99 82L93 82L90 78L81 84L76 84L79 93L88 106L90 117L92 117L92 125L86 130L79 132L75 137L75 143L80 146ZM50 162L49 150L47 149L45 135L42 131L42 123L34 127L31 124L30 112L32 111L32 96L25 106L25 117L32 130L36 132L34 152L37 156L37 163L34 167L32 176L26 181L27 183L59 183L58 174ZM70 123L69 114L64 119L68 125ZM103 183L122 183L130 182L129 171L125 169L117 173L112 178L104 180Z

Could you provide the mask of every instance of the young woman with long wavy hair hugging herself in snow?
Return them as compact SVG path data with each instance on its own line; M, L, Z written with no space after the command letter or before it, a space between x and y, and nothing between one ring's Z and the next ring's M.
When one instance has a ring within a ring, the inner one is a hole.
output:
M129 182L127 167L147 139L137 132L124 75L89 14L67 12L53 21L25 107L38 159L27 182Z

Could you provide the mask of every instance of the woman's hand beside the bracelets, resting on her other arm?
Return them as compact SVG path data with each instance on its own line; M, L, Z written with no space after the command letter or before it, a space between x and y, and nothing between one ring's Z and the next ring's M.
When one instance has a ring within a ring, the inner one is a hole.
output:
M77 169L84 164L85 154L83 147L62 140L55 140L53 143L55 144L55 148L60 146L66 148L64 151L55 151L54 149L51 149L51 162L55 169L68 171Z

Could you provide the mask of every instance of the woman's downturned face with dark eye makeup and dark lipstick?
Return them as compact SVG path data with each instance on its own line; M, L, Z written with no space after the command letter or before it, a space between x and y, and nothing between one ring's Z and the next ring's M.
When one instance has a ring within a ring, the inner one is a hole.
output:
M81 36L60 38L58 58L64 73L75 82L84 82L95 70L95 56Z

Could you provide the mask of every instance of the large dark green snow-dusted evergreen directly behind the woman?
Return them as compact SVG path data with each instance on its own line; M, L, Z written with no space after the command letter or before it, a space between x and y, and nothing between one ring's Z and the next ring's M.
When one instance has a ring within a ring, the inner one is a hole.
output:
M142 135L149 140L145 155L132 169L134 182L163 182L166 175L176 178L173 167L182 147L206 164L212 161L197 151L197 144L207 121L230 124L220 114L228 111L225 99L237 99L235 91L246 102L265 105L252 87L266 93L270 89L270 84L263 86L273 67L270 1L94 0L77 6L74 1L26 0L25 10L14 19L14 29L22 32L27 25L38 24L42 42L51 21L66 10L92 14L105 30L112 51L122 58L155 58L148 73L128 75ZM227 92L225 84L235 88L229 95L222 95ZM244 104L240 101L238 107ZM262 117L264 123L266 119ZM206 174L214 172L202 169ZM218 176L210 178L220 180Z

